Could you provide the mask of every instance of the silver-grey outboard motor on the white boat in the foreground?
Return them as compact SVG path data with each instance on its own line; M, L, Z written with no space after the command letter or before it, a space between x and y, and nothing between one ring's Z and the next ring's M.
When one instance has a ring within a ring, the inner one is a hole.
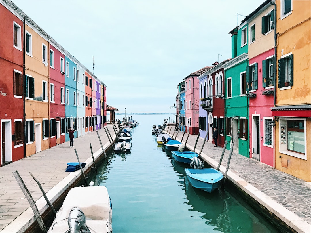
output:
M79 233L80 230L89 231L86 226L86 217L81 209L74 207L71 209L67 220L70 233Z

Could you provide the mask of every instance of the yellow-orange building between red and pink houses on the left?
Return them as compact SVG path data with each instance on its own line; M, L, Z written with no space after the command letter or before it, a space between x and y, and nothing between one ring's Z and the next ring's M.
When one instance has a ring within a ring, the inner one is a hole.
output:
M49 148L49 42L33 21L26 20L26 156ZM34 134L34 135L32 135Z

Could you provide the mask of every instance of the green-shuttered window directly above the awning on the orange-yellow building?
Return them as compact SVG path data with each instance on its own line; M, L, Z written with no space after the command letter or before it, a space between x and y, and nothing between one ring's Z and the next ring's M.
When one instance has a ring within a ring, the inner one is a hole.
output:
M279 88L294 85L293 54L282 57L279 59Z

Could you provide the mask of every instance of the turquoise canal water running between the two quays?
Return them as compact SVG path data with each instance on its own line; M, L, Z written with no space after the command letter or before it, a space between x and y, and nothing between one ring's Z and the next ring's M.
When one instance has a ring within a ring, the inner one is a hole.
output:
M230 190L193 188L183 165L158 145L152 125L172 115L132 115L129 153L112 153L89 177L107 187L113 232L279 232Z

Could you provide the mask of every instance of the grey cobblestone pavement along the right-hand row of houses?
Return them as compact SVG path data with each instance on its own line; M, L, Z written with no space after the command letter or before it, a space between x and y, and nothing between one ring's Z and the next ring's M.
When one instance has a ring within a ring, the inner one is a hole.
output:
M169 130L167 131L169 132ZM172 132L173 130L171 130L171 135ZM186 133L183 137L183 143L185 143L187 136ZM177 140L180 141L181 138L182 132L178 133ZM190 145L193 148L196 140L197 135L189 135L186 146ZM203 142L204 139L200 137L196 149L201 150ZM222 147L214 147L214 144L206 142L202 153L219 162L222 149ZM228 157L229 150L226 150L222 165L227 165ZM272 167L255 159L246 158L237 151L232 152L229 170L311 224L311 189L304 185L304 180L272 169Z

